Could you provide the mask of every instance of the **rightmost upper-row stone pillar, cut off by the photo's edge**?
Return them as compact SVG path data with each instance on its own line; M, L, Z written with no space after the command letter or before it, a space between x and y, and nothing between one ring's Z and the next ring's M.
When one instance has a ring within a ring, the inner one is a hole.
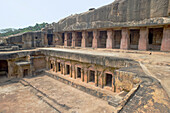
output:
M164 27L161 51L170 51L170 26Z

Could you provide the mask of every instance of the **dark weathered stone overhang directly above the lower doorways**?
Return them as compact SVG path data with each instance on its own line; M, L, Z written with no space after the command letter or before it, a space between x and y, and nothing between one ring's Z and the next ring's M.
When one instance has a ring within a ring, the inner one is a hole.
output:
M104 66L110 66L110 67L128 67L130 65L137 65L137 62L129 59L123 59L118 57L107 57L107 56L96 56L96 55L90 55L86 53L74 53L74 52L66 52L66 51L60 51L60 50L45 50L40 49L42 54L46 56L51 57L60 57L68 60L75 60L79 62L84 63L91 63L91 64L97 64L97 65L104 65Z

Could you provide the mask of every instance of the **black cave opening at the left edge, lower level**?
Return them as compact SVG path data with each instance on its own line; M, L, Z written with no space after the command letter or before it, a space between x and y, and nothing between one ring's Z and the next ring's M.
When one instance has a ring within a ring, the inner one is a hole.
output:
M8 62L6 60L0 60L0 78L8 77Z

